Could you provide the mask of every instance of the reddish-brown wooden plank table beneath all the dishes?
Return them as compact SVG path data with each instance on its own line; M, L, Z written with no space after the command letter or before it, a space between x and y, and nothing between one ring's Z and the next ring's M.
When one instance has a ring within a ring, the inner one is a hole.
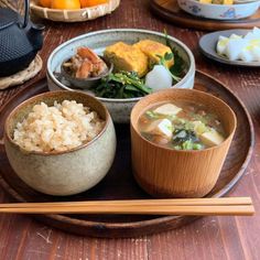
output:
M176 28L154 17L149 0L122 0L109 17L93 22L62 24L44 22L44 68L29 84L45 75L46 59L61 43L100 29L140 28L162 32L188 45L196 66L217 77L237 94L249 109L254 123L256 148L247 172L231 196L251 196L254 217L205 217L177 230L134 239L97 239L73 236L40 223L29 216L0 215L0 259L260 259L260 71L215 64L198 53L203 32ZM0 106L19 89L0 91ZM2 126L1 126L2 127ZM9 197L0 189L0 202Z

